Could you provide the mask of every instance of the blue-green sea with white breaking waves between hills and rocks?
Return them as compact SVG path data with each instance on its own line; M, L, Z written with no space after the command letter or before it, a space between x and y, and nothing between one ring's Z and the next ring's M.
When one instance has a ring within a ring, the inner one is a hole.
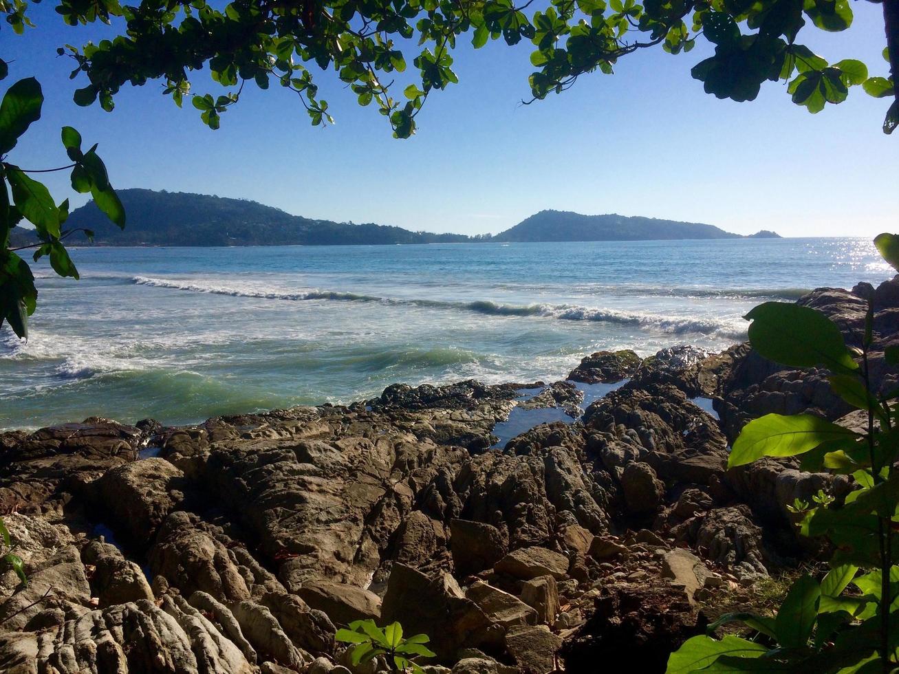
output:
M350 403L394 382L565 378L584 355L724 349L743 315L893 272L869 239L76 248L0 328L0 429Z

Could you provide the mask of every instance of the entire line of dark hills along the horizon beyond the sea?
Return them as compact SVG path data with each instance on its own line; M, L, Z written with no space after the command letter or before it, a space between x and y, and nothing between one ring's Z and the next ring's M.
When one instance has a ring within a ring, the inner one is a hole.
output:
M434 244L481 242L637 241L747 238L712 225L617 214L584 216L542 210L498 235L432 234L403 227L294 216L257 201L191 192L118 191L128 224L120 230L93 202L76 208L65 227L93 231L93 244L120 246L241 246ZM27 234L26 234L27 233ZM16 245L36 241L13 229ZM764 230L752 237L779 237ZM82 244L73 237L72 243Z

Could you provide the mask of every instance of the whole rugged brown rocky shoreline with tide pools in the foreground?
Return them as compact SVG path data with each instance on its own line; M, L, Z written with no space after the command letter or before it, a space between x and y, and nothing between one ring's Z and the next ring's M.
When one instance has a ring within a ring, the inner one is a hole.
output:
M899 280L799 303L851 346L872 293L886 390ZM663 671L816 563L788 506L852 489L796 460L728 470L769 412L856 422L823 371L740 344L601 352L548 385L2 433L0 512L29 584L0 577L0 670L361 674L379 661L353 667L334 632L373 618L428 634L427 672Z

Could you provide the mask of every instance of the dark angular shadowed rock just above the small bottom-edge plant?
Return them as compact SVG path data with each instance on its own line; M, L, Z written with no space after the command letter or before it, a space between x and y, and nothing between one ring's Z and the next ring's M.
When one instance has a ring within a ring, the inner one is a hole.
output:
M398 563L387 582L381 621L398 621L405 634L428 634L429 646L441 660L449 660L462 647L498 643L503 632L465 597L449 573L438 572L429 578Z

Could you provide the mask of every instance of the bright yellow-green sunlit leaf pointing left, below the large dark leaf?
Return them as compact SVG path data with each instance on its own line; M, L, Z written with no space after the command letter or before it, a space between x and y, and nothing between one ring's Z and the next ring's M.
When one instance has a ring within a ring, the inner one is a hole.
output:
M727 466L743 466L761 457L796 457L824 442L856 437L853 431L811 414L765 414L743 427Z

